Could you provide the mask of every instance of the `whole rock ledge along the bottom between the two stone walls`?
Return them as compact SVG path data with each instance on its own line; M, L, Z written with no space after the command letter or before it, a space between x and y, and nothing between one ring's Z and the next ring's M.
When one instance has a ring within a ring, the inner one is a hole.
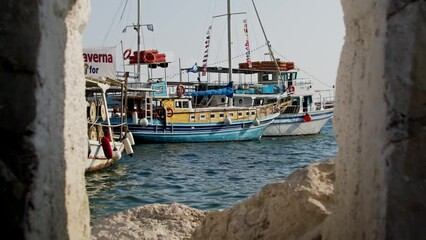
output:
M153 204L117 213L95 224L92 239L315 239L334 205L334 179L332 160L315 163L222 211Z

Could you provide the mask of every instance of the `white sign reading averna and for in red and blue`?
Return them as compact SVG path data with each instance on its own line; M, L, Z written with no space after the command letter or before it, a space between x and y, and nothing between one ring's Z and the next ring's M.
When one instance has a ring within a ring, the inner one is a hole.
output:
M115 48L83 49L84 74L90 77L115 78Z

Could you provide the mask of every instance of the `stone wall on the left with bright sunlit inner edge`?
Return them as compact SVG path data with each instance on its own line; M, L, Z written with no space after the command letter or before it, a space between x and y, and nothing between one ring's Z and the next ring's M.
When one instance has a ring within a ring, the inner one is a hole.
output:
M88 2L2 2L3 235L88 239L82 30Z

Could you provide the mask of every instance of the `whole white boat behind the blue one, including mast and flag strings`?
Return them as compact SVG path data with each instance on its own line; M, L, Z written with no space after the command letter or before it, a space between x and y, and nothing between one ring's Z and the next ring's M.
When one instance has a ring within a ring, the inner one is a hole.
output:
M228 7L229 2L230 0L228 0ZM252 3L263 30L254 1ZM227 73L228 76L231 74L257 75L256 84L243 83L234 87L233 105L237 107L258 107L264 104L276 104L280 108L280 115L266 128L263 136L277 137L320 133L327 121L333 116L334 89L316 91L309 79L298 78L298 72L295 70L293 62L280 61L274 57L270 41L264 31L268 55L271 60L252 62L246 22L244 22L244 32L247 34L245 45L247 62L240 63L238 69L232 69L230 61L228 68L206 67L204 65L203 67L193 67L193 69L203 68L204 72ZM326 92L329 94L324 95Z

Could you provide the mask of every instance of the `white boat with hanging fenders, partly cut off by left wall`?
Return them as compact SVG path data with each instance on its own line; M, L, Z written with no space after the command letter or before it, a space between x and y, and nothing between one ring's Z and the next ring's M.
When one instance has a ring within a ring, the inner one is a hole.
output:
M108 111L108 99L111 99L107 97L108 91L118 92L123 96L122 89L125 88L125 84L121 81L86 77L88 124L86 173L111 166L121 159L124 150L129 155L133 154L134 141L127 124L121 121L111 125L109 120L112 112ZM124 116L120 111L114 114ZM116 129L115 133L113 129Z

